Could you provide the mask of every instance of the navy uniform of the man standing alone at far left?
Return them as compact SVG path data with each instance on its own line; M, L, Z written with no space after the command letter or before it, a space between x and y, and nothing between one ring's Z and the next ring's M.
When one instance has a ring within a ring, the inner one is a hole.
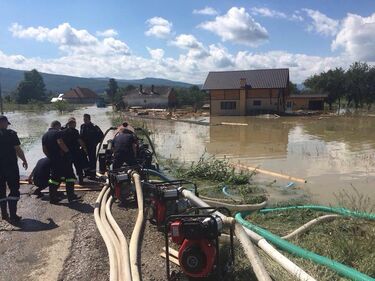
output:
M17 133L9 129L0 129L0 205L2 213L6 213L9 202L11 216L16 215L17 201L20 199L20 173L15 146L20 145ZM10 193L6 196L6 185Z

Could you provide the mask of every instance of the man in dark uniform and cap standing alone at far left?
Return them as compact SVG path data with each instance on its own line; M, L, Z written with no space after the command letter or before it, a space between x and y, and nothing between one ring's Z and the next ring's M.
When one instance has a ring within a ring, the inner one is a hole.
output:
M11 223L18 223L21 217L17 215L17 202L20 199L20 174L17 163L17 156L22 160L22 166L27 169L25 154L20 147L20 140L17 133L8 129L10 125L7 117L0 116L0 206L1 217L10 220ZM6 186L10 193L6 196ZM7 202L9 214L7 211Z

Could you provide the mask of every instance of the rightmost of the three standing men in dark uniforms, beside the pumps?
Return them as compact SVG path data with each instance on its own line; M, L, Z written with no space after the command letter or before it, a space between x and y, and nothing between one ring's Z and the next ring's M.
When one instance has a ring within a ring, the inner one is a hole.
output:
M86 145L91 176L95 176L96 146L102 141L104 134L97 125L94 125L91 122L90 114L86 113L83 115L83 124L81 125L80 136Z

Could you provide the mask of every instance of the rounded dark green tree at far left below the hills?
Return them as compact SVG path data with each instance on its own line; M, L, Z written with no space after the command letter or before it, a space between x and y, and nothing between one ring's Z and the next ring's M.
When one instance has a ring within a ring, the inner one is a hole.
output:
M46 86L40 73L33 69L24 73L24 80L18 84L13 93L17 103L28 103L30 100L44 101Z

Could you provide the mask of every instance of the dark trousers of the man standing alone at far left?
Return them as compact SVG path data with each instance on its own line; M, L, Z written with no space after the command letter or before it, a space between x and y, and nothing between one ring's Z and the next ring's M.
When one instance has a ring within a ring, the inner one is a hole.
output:
M9 187L9 194L6 195L6 187ZM6 213L7 202L11 217L16 216L17 202L20 199L20 174L17 168L7 168L6 171L0 171L0 206L1 212Z

